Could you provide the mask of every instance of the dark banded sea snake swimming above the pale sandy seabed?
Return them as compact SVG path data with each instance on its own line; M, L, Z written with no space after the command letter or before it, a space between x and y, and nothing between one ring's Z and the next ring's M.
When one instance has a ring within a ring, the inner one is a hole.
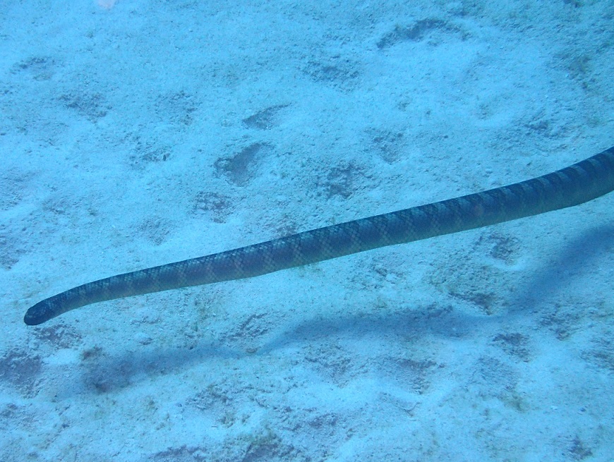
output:
M387 245L481 228L572 207L612 190L614 147L565 169L509 186L88 282L33 305L23 320L28 325L41 324L104 300L260 276Z

